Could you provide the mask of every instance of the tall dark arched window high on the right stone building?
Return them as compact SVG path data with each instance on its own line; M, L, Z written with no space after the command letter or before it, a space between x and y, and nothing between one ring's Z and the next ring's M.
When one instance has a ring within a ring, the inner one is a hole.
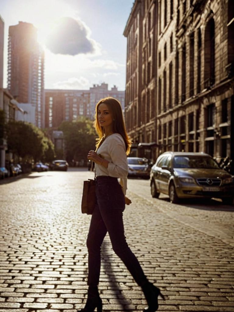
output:
M204 86L215 83L215 22L211 18L207 23L204 42Z

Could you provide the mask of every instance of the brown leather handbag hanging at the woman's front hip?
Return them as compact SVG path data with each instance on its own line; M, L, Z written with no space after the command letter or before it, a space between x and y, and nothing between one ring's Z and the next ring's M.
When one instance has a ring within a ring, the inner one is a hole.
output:
M96 199L96 170L95 177L93 179L88 179L88 181L84 181L83 184L83 195L81 201L81 212L92 214L97 203Z

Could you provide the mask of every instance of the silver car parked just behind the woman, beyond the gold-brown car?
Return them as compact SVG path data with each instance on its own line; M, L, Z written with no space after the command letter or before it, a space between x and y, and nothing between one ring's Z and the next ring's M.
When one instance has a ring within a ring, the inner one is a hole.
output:
M150 166L147 158L128 157L128 177L149 179Z

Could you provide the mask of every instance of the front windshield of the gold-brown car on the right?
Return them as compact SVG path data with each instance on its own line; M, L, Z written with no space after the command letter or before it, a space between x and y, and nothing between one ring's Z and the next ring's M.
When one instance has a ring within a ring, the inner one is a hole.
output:
M174 168L219 169L217 163L206 156L175 156Z

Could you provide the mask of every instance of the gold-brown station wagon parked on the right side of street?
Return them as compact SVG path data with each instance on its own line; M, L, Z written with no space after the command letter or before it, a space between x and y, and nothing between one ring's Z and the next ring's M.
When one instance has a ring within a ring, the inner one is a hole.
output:
M150 172L152 197L169 195L170 202L180 198L221 198L232 204L232 176L219 168L204 153L166 152L160 155Z

